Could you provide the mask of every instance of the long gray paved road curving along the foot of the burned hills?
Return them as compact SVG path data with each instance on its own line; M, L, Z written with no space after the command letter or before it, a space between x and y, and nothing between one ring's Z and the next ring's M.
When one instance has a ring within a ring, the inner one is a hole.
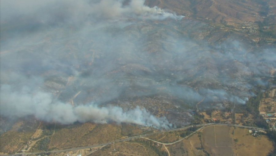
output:
M243 126L243 125L237 125L237 124L216 124L216 123L209 123L209 124L197 124L195 126L197 126L197 127L205 127L205 126L209 126L209 125L225 125L225 126L233 126L233 127L248 128L248 129L255 128L255 129L263 130L263 131L266 130L264 128ZM170 129L170 130L165 130L165 131L160 131L160 132L148 133L148 134L143 134L143 135L138 135L138 136L132 136L132 137L124 138L124 139L115 140L113 142L128 141L128 140L131 140L131 139L142 138L142 137L145 137L145 136L150 136L150 135L153 135L153 134L158 134L158 133L163 133L163 132L186 130L186 129L191 128L191 127L193 127L193 125L186 126L186 127L181 127L181 128ZM8 155L0 155L0 156L21 156L22 154L24 154L24 155L32 155L32 154L40 154L40 153L57 153L57 152L65 152L65 151L72 151L72 150L82 150L82 149L86 149L86 148L93 148L93 147L100 147L100 146L108 145L108 144L111 144L113 142L102 143L102 144L97 144L97 145L92 145L92 146L85 146L85 147L76 147L76 148L70 148L70 149L65 149L65 150L51 150L51 151L47 151L47 152L33 152L33 153L18 153L18 154L8 154Z

